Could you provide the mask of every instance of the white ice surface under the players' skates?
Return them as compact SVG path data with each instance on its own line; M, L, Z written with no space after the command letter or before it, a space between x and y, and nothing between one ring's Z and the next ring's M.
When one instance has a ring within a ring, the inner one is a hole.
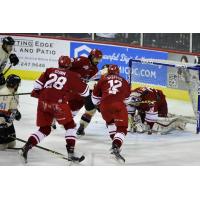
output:
M19 92L30 92L32 86L32 81L22 81ZM15 122L17 137L27 140L30 134L37 130L36 109L37 99L29 95L20 96L19 110L22 113L22 119ZM193 115L191 105L181 101L169 100L169 111L187 116ZM76 116L76 122L79 121L82 113L83 110ZM200 135L194 132L195 125L188 125L184 132L174 131L173 134L165 136L128 134L121 152L126 159L125 165L200 165ZM65 130L58 127L40 145L67 156L64 133ZM21 146L23 143L17 142L17 147ZM86 135L77 140L77 154L83 153L86 156L85 161L80 165L121 165L111 158L110 147L111 141L105 123L101 115L97 113L86 129ZM67 161L38 148L33 148L29 152L28 161L27 166L69 165ZM21 162L17 151L7 150L0 152L0 165L25 164Z

